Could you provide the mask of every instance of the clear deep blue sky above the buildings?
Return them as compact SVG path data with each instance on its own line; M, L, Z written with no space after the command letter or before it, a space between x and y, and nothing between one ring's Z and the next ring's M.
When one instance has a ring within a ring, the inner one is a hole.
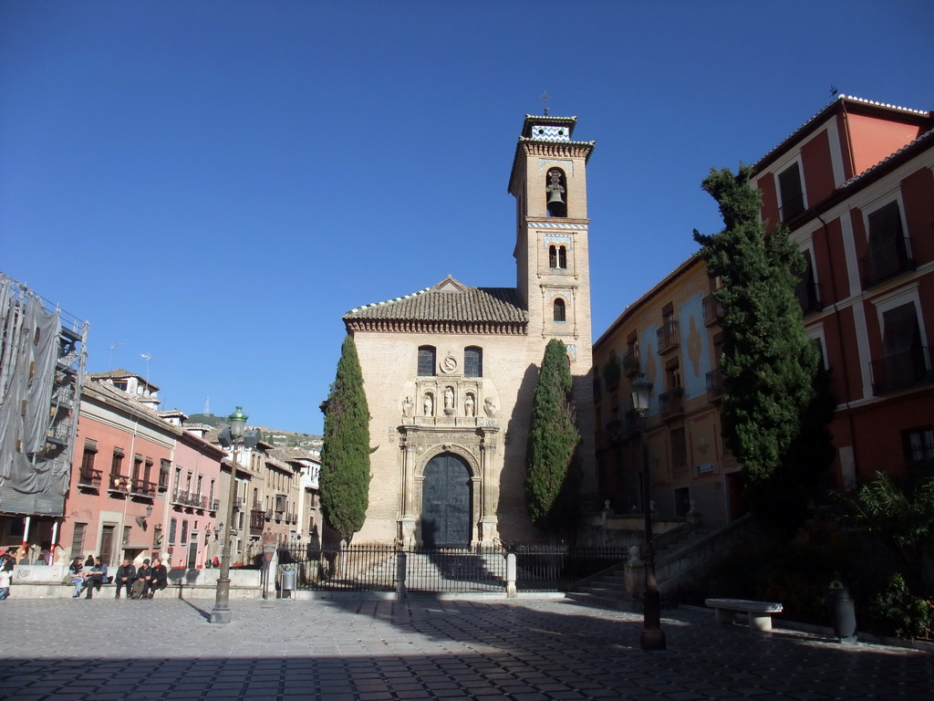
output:
M515 284L506 180L545 91L597 142L596 338L719 230L712 166L831 86L934 108L932 25L894 0L2 0L0 270L163 408L318 433L348 309Z

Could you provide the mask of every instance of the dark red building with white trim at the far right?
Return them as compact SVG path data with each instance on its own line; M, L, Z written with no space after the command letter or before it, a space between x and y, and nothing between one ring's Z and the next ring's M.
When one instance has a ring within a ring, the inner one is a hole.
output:
M842 487L934 475L934 116L841 95L755 166L838 402Z

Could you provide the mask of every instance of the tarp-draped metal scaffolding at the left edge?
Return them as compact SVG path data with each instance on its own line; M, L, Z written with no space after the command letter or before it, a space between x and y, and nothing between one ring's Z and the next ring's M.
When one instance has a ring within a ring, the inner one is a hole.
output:
M0 515L64 515L88 326L0 273Z

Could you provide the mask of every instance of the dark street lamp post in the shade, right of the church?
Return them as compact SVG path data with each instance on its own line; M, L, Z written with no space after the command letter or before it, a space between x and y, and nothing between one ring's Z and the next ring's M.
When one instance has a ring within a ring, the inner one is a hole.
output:
M661 629L661 594L655 578L655 543L652 537L652 507L649 493L648 431L646 415L652 395L652 383L641 374L632 383L632 408L639 417L639 443L643 465L643 511L645 514L645 592L643 594L643 630L639 646L645 651L665 649L665 631Z

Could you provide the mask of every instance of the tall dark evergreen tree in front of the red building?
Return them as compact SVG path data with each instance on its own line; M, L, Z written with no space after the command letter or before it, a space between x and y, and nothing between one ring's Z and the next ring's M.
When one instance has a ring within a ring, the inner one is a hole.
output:
M766 235L751 173L744 165L736 174L711 170L702 187L726 227L714 236L695 230L694 239L710 275L723 281L715 298L724 309L724 438L745 465L753 513L795 528L817 485L827 484L834 402L804 333L796 294L804 259L784 227Z

